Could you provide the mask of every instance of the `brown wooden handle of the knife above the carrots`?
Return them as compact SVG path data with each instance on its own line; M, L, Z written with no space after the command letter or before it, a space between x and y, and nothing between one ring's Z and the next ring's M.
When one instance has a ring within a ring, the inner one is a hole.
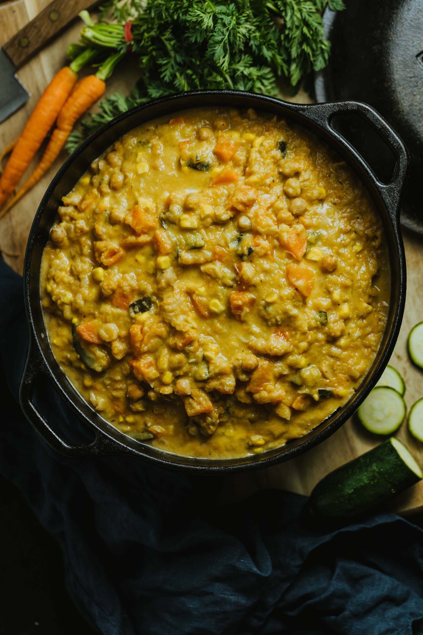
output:
M23 29L6 42L3 50L16 68L20 68L32 55L77 17L79 11L94 6L93 0L53 0Z

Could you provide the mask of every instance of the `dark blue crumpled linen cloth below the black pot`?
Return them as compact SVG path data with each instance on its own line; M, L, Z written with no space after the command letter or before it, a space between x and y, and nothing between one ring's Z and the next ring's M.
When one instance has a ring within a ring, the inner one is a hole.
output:
M0 472L63 552L67 589L105 635L423 633L422 531L393 514L328 530L307 498L262 491L216 505L219 478L134 458L72 460L18 406L22 278L0 262ZM82 424L46 388L56 429ZM75 436L76 440L76 436Z

